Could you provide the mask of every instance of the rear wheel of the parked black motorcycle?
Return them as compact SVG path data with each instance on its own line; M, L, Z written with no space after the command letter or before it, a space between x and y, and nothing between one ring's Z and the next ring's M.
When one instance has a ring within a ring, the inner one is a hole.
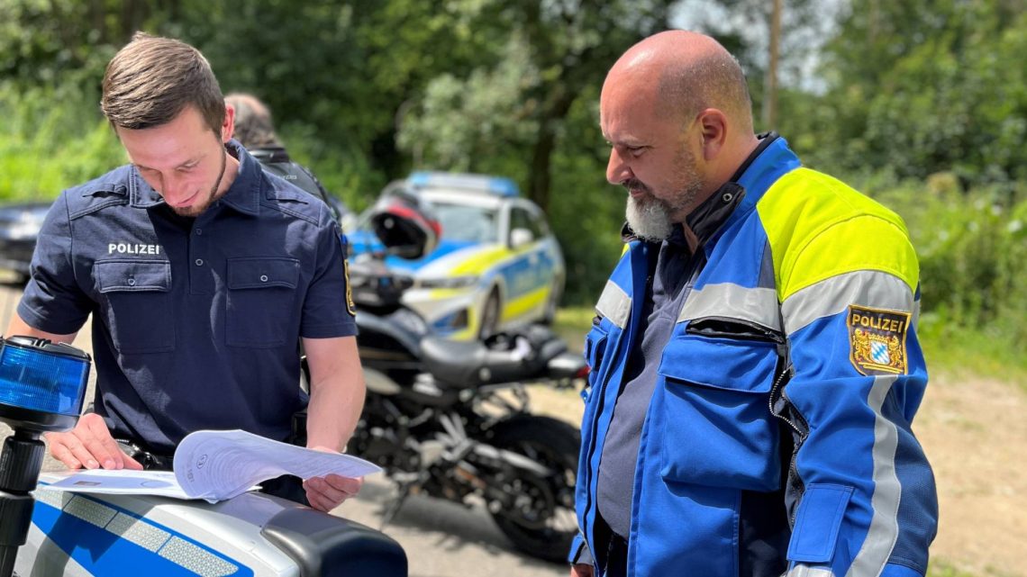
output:
M499 530L526 553L555 563L567 559L577 534L574 484L581 433L556 419L529 415L496 424L490 444L543 465L551 474L521 470L504 482L512 506L491 511Z

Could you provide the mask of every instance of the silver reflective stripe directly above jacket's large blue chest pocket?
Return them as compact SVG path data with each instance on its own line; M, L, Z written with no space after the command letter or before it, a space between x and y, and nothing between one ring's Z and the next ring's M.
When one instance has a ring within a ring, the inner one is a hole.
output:
M731 282L707 284L688 296L678 322L709 316L740 318L781 331L781 308L773 288L746 288Z

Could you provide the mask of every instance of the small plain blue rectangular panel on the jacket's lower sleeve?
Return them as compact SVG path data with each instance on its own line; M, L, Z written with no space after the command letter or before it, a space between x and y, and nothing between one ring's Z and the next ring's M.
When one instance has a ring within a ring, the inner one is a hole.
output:
M851 498L851 487L810 484L799 503L792 541L788 546L788 560L798 563L830 563L834 557L838 531Z

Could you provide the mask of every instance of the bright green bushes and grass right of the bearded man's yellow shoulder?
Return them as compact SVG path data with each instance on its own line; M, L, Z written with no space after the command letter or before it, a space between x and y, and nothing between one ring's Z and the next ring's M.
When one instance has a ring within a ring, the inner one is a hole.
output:
M906 220L917 248L928 360L1021 378L1027 375L1027 200L1007 206L996 186L968 194L936 187L907 184L874 194Z

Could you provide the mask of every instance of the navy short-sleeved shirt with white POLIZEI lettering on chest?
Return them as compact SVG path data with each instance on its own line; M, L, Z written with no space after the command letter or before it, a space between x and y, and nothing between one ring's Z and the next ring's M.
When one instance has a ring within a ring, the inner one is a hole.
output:
M131 165L62 193L17 308L62 335L93 315L96 411L156 453L198 429L284 440L307 402L299 339L356 334L328 206L226 149L238 175L195 219Z

